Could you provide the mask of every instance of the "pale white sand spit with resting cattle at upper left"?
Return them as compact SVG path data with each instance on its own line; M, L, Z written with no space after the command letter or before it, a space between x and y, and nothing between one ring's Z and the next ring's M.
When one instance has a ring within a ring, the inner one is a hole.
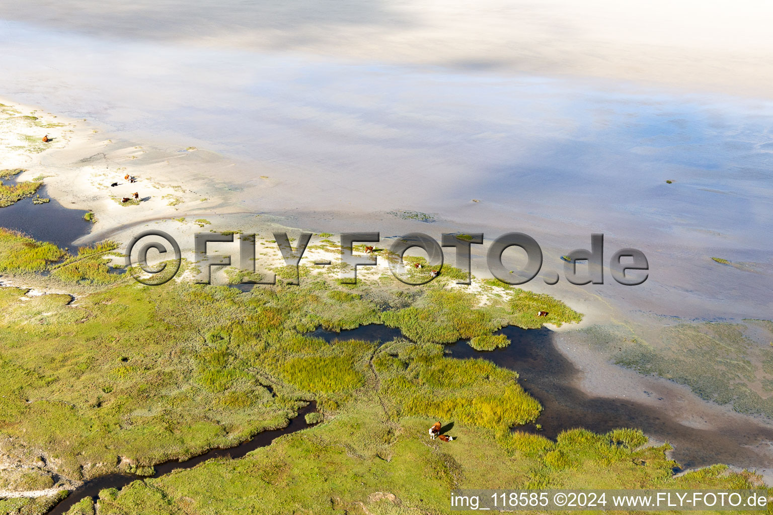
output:
M5 106L0 113L3 168L24 168L19 181L42 180L63 206L94 212L95 239L100 232L148 219L213 212L225 198L228 185L211 186L196 172L229 165L216 154L192 148L145 149L105 139L87 120L56 117L9 100L0 103ZM46 134L49 143L40 139ZM124 198L129 202L122 202Z

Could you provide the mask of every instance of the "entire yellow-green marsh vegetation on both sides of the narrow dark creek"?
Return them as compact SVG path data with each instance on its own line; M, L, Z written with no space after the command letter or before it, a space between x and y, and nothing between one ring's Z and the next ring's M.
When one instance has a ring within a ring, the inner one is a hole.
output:
M244 293L176 280L142 286L107 274L116 253L114 242L73 254L0 230L0 273L76 294L73 301L0 288L0 456L30 468L45 463L34 477L0 471L13 489L150 474L159 462L283 427L312 399L312 428L243 459L104 490L100 515L446 513L452 487L757 481L722 467L673 478L666 447L641 448L645 438L632 430L578 429L557 442L511 432L541 410L518 374L449 357L443 344L465 337L499 346L493 331L538 327L537 310L556 324L580 320L549 296L506 288L481 306L472 293L449 289L450 273L428 288L397 280L352 288L311 269L301 286L278 280ZM410 340L327 343L308 334L363 324L399 327ZM458 440L430 442L435 420L452 422ZM0 500L0 511L43 513L51 502ZM93 514L94 503L82 500L70 513Z

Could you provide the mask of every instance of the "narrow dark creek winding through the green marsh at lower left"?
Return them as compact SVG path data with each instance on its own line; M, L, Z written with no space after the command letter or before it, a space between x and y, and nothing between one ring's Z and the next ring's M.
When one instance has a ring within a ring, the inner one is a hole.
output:
M222 458L224 456L229 456L232 459L241 458L247 455L247 452L254 451L259 447L271 445L271 442L273 442L274 439L280 437L281 435L288 435L291 432L296 432L300 431L301 429L308 428L309 424L306 423L305 416L308 413L314 412L316 408L316 402L311 401L308 405L305 405L303 408L298 410L298 416L291 418L287 427L283 429L273 429L271 431L260 432L255 435L253 439L250 439L247 442L243 442L239 446L230 447L228 449L212 449L208 452L205 452L204 454L195 456L186 461L179 462L172 460L161 463L160 465L156 465L155 474L153 474L152 477L157 478L164 476L165 474L169 474L174 470L192 469L196 465L199 465L199 463L205 462L207 459ZM66 499L53 507L53 509L48 512L48 515L63 515L63 513L67 513L67 510L70 510L70 508L73 507L73 504L77 503L84 497L97 499L100 490L104 490L105 488L116 488L121 490L121 488L124 486L128 486L130 483L141 479L148 479L148 476L107 474L106 476L99 476L95 479L90 479L89 481L86 481L81 486L79 486L77 489L73 490L70 495L66 497Z

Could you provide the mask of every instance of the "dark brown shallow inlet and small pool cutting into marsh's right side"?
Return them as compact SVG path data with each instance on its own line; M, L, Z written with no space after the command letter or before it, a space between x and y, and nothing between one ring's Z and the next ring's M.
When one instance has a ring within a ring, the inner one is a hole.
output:
M369 325L339 333L317 330L312 333L327 341L358 339L391 341L400 336L400 330L380 325ZM748 469L769 468L773 463L767 456L750 446L760 441L773 442L773 430L749 422L719 426L715 429L696 429L674 420L673 407L663 401L662 408L654 408L635 401L593 397L577 388L581 371L558 351L555 333L541 329L505 327L498 332L512 342L495 351L475 351L466 341L447 345L451 357L482 357L501 367L518 372L519 382L543 405L536 422L542 425L540 434L550 439L573 428L593 432L608 432L616 428L638 428L651 438L669 442L673 459L683 469L715 463L726 463ZM519 431L537 432L534 424L520 426Z

